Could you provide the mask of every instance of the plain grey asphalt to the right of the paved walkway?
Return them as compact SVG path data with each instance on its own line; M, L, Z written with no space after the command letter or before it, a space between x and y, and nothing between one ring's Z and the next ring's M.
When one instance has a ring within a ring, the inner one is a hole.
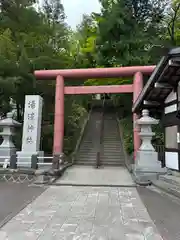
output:
M179 240L180 201L151 188L138 187L137 190L163 239Z

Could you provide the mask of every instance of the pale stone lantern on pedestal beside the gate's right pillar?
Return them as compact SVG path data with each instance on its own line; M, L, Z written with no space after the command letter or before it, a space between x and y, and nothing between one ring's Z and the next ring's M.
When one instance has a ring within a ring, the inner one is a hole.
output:
M148 110L143 110L142 117L136 121L141 129L139 135L142 139L134 164L134 175L139 183L157 179L159 174L166 172L164 168L161 168L158 154L151 143L152 137L155 135L152 132L151 125L157 125L158 123L159 120L149 116Z

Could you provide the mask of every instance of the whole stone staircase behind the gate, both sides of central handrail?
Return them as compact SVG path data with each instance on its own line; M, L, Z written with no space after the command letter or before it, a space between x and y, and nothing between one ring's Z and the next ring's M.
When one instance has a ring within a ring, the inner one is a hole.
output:
M95 109L90 115L75 164L96 166L100 140L102 109ZM124 166L125 159L119 134L116 114L104 113L103 133L100 151L100 166ZM97 123L99 123L97 125ZM99 126L99 128L97 128Z

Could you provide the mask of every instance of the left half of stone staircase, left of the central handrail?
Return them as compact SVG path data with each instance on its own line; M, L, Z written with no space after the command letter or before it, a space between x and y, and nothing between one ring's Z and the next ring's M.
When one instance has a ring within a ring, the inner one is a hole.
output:
M97 142L99 141L100 135L98 126L101 121L101 110L95 109L90 115L90 119L87 123L82 143L80 145L75 164L78 165L96 165L97 155ZM96 124L97 123L97 124Z

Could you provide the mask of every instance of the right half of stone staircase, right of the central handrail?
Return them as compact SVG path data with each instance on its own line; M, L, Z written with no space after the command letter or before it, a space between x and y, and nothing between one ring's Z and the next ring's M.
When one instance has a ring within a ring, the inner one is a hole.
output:
M100 160L102 166L125 165L124 153L115 113L104 114L102 148Z

